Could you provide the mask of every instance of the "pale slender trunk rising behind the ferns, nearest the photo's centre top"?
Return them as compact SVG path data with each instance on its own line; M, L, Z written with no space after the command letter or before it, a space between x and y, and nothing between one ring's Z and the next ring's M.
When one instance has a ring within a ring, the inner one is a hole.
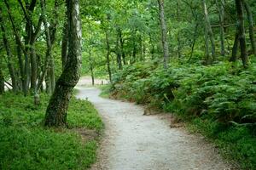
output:
M167 68L167 63L169 59L169 47L168 47L168 41L167 41L167 28L166 28L166 20L165 20L164 0L158 0L158 5L159 5L161 35L162 35L162 46L163 46L163 54L164 54L164 67Z

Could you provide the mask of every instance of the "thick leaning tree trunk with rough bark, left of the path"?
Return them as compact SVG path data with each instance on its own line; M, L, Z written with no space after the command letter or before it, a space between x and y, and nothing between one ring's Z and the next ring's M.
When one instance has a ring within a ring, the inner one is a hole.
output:
M79 0L67 1L68 53L67 63L61 77L56 82L54 94L49 100L44 125L63 127L67 125L67 108L74 86L79 82L81 62L81 27Z

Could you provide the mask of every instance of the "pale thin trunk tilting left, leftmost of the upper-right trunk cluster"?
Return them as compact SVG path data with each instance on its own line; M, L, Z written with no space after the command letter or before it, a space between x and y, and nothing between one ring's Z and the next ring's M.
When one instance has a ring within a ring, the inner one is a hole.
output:
M208 34L208 38L211 41L211 48L212 48L212 60L215 60L216 54L215 54L215 43L214 43L214 37L213 37L213 33L212 33L212 26L209 20L209 15L208 15L208 9L207 9L207 3L206 0L202 0L202 7L204 10L204 18L205 18L205 24L206 24L206 28L207 28L207 34ZM207 42L207 40L206 40Z

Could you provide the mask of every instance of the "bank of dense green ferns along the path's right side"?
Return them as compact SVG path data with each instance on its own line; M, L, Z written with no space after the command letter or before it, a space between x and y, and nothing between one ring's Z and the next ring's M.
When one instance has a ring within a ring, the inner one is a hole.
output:
M172 112L241 168L255 169L255 75L254 64L243 69L228 62L173 62L165 70L154 63L137 63L115 74L105 94Z

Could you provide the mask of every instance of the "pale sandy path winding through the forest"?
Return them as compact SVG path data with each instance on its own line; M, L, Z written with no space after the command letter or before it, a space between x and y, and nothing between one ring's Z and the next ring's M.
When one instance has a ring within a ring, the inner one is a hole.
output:
M171 128L161 116L143 116L143 107L102 99L100 89L78 86L106 125L93 170L224 170L229 165L198 135Z

